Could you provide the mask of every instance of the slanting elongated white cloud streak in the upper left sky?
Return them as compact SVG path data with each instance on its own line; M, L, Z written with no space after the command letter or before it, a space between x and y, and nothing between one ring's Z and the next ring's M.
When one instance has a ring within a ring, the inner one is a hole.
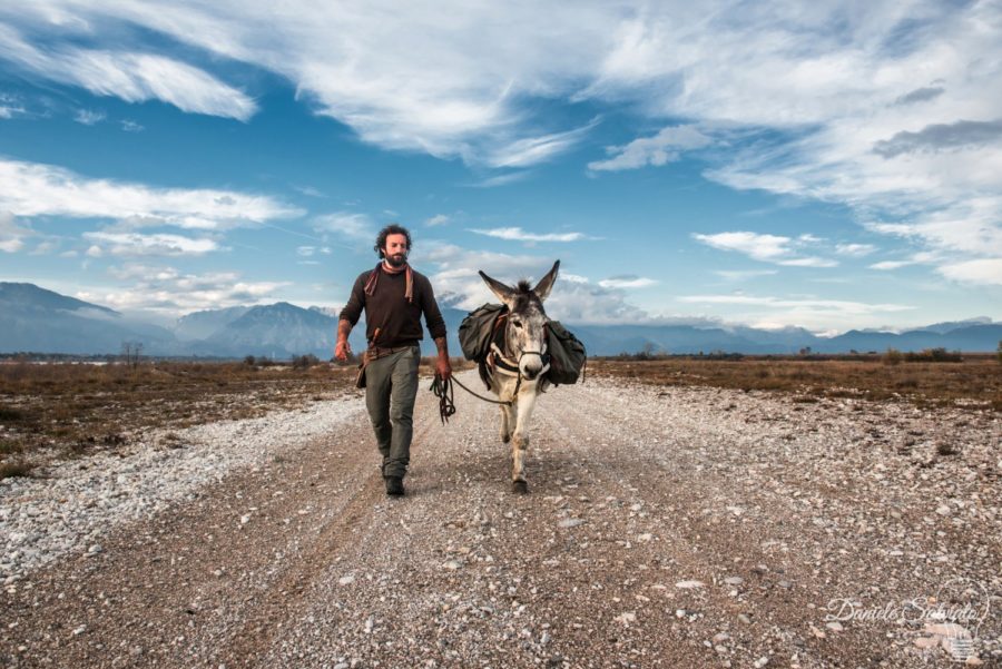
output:
M70 46L41 50L13 29L0 26L0 58L46 79L128 102L161 100L183 111L239 120L249 119L257 110L244 92L208 72L153 53Z

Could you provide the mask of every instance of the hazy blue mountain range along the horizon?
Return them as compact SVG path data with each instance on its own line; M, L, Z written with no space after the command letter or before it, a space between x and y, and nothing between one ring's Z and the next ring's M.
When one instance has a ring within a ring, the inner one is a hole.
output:
M303 308L287 302L195 312L164 327L129 318L105 306L47 291L33 284L0 283L0 353L35 352L78 355L119 353L122 343L141 343L155 356L268 356L276 360L313 354L328 360L337 329L336 309ZM456 332L466 312L444 306L449 350L460 351ZM902 333L852 329L821 337L806 329L746 326L587 325L566 323L589 355L619 353L813 353L921 351L995 351L1002 323L988 317L936 323ZM364 347L364 325L352 332L355 351ZM425 338L424 353L434 344Z

